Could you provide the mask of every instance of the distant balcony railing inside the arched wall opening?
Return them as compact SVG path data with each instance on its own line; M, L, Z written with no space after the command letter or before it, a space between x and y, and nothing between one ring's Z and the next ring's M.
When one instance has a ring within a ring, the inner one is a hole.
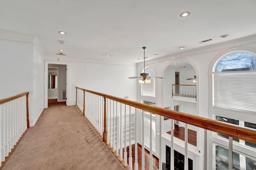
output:
M196 85L172 84L173 96L196 98Z

